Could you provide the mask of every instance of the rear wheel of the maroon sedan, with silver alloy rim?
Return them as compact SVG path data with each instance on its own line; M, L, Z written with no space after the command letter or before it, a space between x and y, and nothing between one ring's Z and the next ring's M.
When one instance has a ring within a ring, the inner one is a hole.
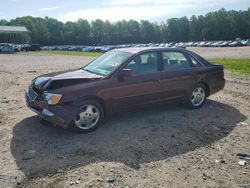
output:
M203 84L197 84L187 99L187 105L191 109L201 108L207 100L207 88Z

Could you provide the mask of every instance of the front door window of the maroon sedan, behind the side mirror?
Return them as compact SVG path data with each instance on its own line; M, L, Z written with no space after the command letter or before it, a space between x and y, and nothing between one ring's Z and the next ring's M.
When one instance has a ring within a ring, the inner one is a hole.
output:
M158 71L157 53L144 53L136 56L126 68L131 69L134 75L154 73Z

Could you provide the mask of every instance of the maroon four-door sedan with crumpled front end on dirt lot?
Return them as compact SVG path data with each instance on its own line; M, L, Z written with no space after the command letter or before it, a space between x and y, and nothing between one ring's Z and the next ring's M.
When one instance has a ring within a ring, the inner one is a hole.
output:
M109 51L81 69L35 78L27 106L42 118L78 132L96 129L114 112L165 101L200 108L225 85L222 65L175 48Z

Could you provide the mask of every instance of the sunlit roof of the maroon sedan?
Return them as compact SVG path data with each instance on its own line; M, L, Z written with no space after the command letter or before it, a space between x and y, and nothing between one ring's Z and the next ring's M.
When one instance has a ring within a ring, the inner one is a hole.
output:
M131 48L117 48L114 49L115 51L121 51L121 52L129 52L136 54L138 52L146 52L146 51L152 51L152 50L176 50L176 51L184 51L182 48L167 48L167 47L131 47Z

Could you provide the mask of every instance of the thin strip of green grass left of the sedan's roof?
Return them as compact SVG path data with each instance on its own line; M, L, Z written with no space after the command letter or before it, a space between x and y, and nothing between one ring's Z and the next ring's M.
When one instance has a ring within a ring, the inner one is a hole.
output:
M44 54L60 54L60 55L73 55L73 56L100 56L101 52L78 52L78 51L62 51L62 50L42 50L40 53Z

